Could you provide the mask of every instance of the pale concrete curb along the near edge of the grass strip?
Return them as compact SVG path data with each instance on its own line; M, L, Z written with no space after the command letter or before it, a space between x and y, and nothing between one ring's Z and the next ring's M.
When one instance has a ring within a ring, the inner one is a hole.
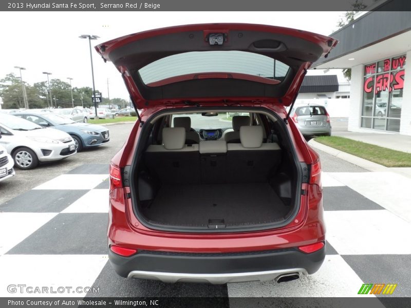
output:
M370 162L366 159L351 155L349 153L340 151L338 149L334 149L330 146L324 145L322 143L316 142L313 139L311 139L308 144L320 151L326 152L329 155L335 156L337 158L340 158L346 162L349 162L353 165L359 166L361 168L364 168L368 171L373 171L373 172L378 172L378 171L389 171L388 167L385 167L383 165L377 164L377 163L373 163Z

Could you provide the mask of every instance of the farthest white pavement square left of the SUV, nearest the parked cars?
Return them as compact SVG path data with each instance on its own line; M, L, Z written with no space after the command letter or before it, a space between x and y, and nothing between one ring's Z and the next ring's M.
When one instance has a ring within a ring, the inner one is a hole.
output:
M33 189L93 189L108 175L61 175Z

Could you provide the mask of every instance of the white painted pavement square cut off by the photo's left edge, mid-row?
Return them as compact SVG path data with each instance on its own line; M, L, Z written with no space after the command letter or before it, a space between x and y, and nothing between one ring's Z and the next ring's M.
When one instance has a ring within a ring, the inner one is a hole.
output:
M0 213L0 256L57 214L59 213Z

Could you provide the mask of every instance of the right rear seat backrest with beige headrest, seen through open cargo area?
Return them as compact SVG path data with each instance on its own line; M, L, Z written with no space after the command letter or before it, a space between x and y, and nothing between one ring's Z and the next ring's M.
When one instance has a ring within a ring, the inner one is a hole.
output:
M229 182L266 182L281 161L277 143L263 143L263 127L241 126L241 144L227 144Z

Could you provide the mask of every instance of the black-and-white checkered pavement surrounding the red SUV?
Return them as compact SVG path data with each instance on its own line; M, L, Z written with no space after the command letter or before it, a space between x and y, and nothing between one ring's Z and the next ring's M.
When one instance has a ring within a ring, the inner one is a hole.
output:
M317 273L279 284L165 284L111 269L108 165L83 165L0 205L0 296L13 296L9 284L26 284L98 286L91 296L364 297L363 283L397 283L392 296L410 296L411 179L361 170L323 172L322 183L327 255Z

